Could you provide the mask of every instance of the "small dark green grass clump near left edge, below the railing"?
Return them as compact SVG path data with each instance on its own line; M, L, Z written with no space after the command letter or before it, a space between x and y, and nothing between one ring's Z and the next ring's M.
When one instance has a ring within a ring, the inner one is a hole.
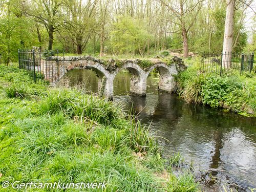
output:
M20 84L11 84L4 88L6 94L10 98L24 98L27 95L27 90Z

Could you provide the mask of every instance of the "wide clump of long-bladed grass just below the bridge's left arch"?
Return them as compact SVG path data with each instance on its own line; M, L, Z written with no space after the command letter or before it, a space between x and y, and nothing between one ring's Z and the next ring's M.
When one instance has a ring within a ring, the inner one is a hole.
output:
M68 89L49 92L40 105L40 110L50 114L62 111L82 121L92 120L105 125L121 115L121 108L115 103Z

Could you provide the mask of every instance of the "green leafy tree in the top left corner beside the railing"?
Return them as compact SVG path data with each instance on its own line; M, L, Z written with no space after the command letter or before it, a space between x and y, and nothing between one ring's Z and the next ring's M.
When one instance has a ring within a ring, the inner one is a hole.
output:
M17 59L17 50L33 44L29 28L31 21L20 10L19 0L1 2L0 12L0 54L9 65Z

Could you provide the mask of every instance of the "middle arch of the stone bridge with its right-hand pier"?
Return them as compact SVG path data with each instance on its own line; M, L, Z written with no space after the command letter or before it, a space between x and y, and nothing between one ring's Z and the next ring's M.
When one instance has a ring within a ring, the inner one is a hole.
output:
M138 95L146 95L146 73L133 61L127 61L121 68L115 71L115 76L121 70L128 70L132 77L130 79L130 92Z

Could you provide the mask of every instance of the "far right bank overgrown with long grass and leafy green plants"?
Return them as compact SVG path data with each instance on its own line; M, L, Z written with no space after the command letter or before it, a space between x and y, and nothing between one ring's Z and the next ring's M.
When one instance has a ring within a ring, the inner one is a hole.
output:
M200 72L199 60L186 61L188 68L177 80L179 94L189 103L224 108L245 116L256 116L256 74L222 76Z

